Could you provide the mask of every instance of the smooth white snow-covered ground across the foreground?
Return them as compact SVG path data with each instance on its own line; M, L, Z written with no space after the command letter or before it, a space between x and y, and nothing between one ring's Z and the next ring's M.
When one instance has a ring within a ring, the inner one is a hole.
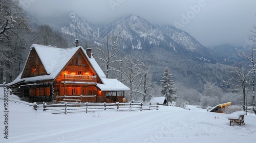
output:
M0 97L3 93L0 87ZM195 106L51 114L15 102L9 102L5 139L3 107L0 100L0 142L256 142L256 116L252 115L245 115L243 126L229 126L229 114Z

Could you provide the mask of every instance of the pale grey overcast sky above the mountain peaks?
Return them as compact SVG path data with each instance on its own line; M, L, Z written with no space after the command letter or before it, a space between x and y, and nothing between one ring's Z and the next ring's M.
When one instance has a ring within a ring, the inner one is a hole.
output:
M92 23L109 23L127 14L151 23L170 24L205 46L243 46L256 25L255 0L19 0L39 15L74 11Z

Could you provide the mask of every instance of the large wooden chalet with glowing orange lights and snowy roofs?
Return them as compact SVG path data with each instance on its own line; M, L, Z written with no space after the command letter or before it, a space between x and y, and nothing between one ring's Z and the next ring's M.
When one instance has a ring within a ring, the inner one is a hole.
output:
M31 102L122 102L129 87L107 79L92 49L60 49L33 44L22 73L7 84L13 93Z

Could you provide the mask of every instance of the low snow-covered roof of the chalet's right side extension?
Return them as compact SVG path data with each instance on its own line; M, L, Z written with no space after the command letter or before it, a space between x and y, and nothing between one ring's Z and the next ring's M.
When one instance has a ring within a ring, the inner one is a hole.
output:
M129 91L129 87L118 81L117 79L102 78L103 84L97 83L97 87L101 91Z

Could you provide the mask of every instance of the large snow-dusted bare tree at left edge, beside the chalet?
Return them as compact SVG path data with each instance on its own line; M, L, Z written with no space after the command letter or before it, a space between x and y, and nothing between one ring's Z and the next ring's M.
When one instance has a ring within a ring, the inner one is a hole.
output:
M4 76L12 81L23 59L23 35L31 30L18 1L0 0L0 15L0 82Z

